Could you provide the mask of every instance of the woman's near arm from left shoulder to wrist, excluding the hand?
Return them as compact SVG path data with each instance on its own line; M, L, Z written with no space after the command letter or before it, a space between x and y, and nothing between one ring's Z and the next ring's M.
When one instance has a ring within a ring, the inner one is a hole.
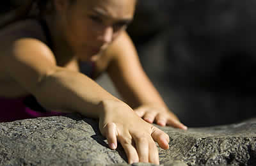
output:
M85 75L56 66L51 50L37 40L16 41L12 52L3 58L3 64L13 79L49 110L98 117L99 112L95 111L100 102L116 100Z

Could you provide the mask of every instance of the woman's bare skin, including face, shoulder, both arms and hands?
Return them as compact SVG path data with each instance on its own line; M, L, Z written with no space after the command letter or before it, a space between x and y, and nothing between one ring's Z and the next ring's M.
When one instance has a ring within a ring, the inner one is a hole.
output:
M159 164L155 142L168 149L169 137L150 123L185 130L186 126L166 107L143 72L125 33L135 4L135 0L77 0L74 4L54 0L55 14L45 15L52 50L35 20L0 31L0 96L33 94L46 109L99 118L109 147L116 149L120 142L129 163ZM29 28L36 31L34 36L25 33ZM95 77L108 72L125 102L79 73L78 60L94 61Z

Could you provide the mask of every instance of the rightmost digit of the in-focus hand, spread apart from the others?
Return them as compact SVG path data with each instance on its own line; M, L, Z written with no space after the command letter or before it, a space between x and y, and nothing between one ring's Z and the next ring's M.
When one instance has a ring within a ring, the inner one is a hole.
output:
M154 139L154 141L156 141L159 144L161 148L163 149L169 148L169 144L168 144L170 141L169 135L164 133L162 130L160 130L159 128L153 127L151 136Z

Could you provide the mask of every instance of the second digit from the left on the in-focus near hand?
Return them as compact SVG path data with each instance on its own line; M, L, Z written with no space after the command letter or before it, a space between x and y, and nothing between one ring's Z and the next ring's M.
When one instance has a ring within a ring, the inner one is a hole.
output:
M124 148L125 154L127 155L128 163L138 163L139 156L134 146L132 146L131 139L118 139L122 147Z

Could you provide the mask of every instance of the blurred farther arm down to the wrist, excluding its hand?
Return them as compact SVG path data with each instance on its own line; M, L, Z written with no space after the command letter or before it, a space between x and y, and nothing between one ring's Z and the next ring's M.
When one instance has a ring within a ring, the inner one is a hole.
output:
M152 103L166 107L143 71L136 49L127 33L123 33L122 37L115 41L107 54L113 54L108 74L125 102L132 108Z

